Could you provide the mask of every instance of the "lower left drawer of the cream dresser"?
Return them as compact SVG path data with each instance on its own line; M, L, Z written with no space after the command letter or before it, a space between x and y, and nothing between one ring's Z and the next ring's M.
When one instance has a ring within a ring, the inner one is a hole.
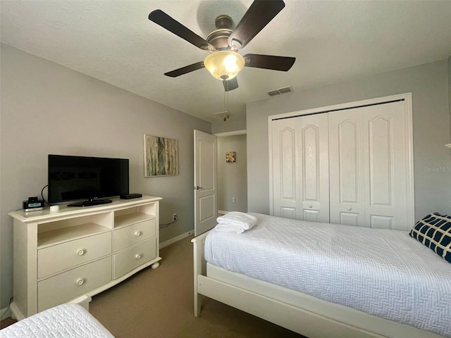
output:
M37 283L37 311L64 303L111 281L111 256Z

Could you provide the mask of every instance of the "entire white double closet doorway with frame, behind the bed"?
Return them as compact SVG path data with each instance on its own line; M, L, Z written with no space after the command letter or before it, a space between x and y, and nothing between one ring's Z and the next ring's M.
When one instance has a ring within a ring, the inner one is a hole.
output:
M412 96L302 113L269 117L271 214L409 230Z

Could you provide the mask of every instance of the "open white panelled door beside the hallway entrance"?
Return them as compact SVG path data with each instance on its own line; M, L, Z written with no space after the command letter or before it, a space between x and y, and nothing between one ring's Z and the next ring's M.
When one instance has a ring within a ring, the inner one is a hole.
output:
M216 225L216 153L216 136L194 130L194 236L199 236Z

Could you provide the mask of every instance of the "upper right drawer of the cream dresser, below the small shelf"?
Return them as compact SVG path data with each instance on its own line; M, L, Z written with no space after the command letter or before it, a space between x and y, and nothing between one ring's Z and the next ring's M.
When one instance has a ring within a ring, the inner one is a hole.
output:
M114 230L114 252L155 237L155 218Z

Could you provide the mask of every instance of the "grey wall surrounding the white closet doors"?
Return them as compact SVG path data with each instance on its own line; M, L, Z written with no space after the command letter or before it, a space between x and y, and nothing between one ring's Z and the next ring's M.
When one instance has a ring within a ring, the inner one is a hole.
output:
M412 92L415 217L451 213L447 73L444 60L247 104L249 212L269 213L268 115Z

